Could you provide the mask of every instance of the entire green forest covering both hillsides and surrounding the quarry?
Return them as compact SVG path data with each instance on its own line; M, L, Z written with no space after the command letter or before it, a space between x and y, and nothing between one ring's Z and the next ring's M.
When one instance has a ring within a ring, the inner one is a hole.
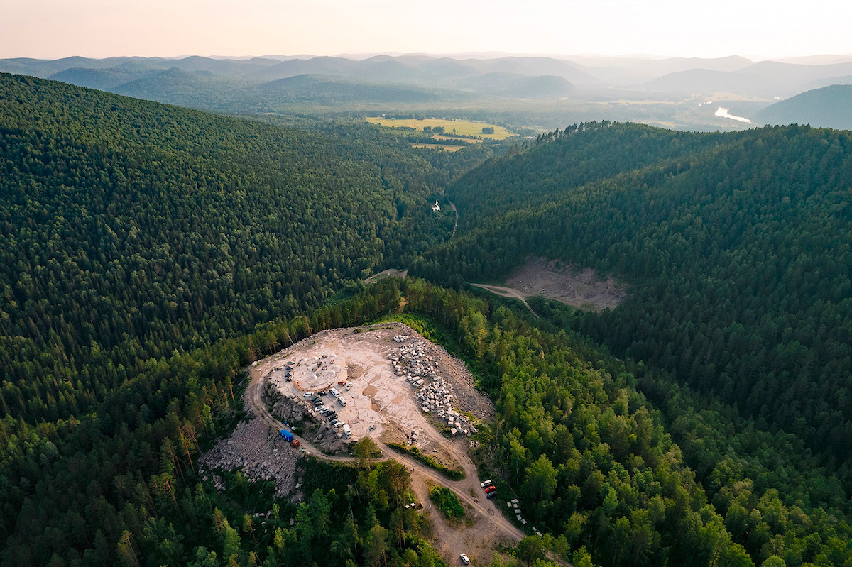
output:
M544 532L519 560L849 567L850 144L591 123L451 154L0 75L0 563L444 564L394 461L305 461L301 504L193 464L247 364L394 318L494 401L475 456ZM531 256L630 295L463 289ZM426 279L360 283L389 266Z

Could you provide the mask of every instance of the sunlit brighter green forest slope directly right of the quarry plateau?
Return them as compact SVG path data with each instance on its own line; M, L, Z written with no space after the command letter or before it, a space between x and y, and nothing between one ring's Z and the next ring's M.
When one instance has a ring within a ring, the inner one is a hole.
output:
M556 558L852 564L849 499L794 436L614 358L571 329L573 308L539 302L546 319L530 319L504 300L422 282L405 293L406 310L445 326L496 400L486 472L546 526Z

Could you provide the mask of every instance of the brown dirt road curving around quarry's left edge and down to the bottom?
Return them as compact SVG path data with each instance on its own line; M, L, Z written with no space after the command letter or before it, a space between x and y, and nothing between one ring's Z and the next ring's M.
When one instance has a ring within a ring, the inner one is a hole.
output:
M291 347L291 349L296 350L295 347ZM283 351L283 355L290 356L289 351L291 349ZM250 413L276 430L283 429L284 423L269 413L263 401L264 367L250 366L249 371L251 381L245 393L245 401L249 406ZM299 439L301 447L307 455L325 461L354 461L354 458L350 456L325 455L319 448L304 438L296 438ZM374 441L377 440L374 439ZM458 563L459 553L467 553L474 559L490 560L495 544L507 540L514 543L526 536L498 510L498 503L504 503L504 499L500 496L494 501L486 499L480 486L481 481L476 473L475 464L464 446L467 443L467 438L444 439L442 449L452 455L453 460L462 467L465 473L465 478L454 481L444 478L439 472L426 467L407 455L393 452L386 444L377 441L377 445L385 458L394 458L408 467L412 475L412 488L417 494L417 498L423 502L423 507L429 510L430 516L434 519L435 541L433 541L433 545L451 564ZM471 519L469 525L450 526L446 524L440 512L433 507L429 500L430 484L444 486L456 493L459 501L463 502L463 505L467 508L468 516Z

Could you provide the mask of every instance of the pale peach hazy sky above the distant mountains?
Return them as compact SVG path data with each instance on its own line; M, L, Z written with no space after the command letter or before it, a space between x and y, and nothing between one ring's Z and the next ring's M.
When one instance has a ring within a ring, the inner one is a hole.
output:
M0 57L852 53L850 0L0 0Z

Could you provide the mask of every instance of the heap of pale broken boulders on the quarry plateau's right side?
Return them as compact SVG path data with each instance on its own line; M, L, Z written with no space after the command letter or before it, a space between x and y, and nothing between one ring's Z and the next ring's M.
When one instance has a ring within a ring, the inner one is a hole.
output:
M394 341L406 342L405 335L394 336ZM438 375L438 362L427 354L424 341L411 341L397 348L389 357L394 373L402 376L417 391L417 403L423 413L431 413L446 421L453 435L470 435L476 428L469 419L452 407L452 386ZM427 381L429 381L427 383Z

